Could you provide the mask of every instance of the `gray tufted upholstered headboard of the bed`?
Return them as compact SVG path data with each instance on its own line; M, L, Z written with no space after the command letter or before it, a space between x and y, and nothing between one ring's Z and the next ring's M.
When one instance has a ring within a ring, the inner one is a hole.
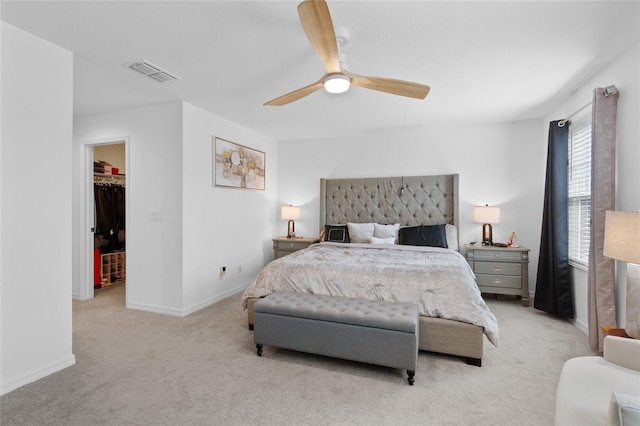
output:
M320 179L320 230L348 222L458 225L458 175Z

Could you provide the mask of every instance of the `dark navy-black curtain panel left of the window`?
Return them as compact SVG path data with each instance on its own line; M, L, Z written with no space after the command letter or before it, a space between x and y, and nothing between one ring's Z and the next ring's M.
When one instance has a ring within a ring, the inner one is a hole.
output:
M573 318L569 275L568 158L569 129L549 124L547 175L536 297L533 306L560 318Z

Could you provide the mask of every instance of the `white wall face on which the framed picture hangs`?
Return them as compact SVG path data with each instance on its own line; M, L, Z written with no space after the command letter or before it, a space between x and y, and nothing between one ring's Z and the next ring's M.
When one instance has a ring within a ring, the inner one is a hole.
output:
M186 103L183 129L182 282L188 313L243 290L272 260L278 151L275 141ZM212 185L213 136L265 153L265 191Z

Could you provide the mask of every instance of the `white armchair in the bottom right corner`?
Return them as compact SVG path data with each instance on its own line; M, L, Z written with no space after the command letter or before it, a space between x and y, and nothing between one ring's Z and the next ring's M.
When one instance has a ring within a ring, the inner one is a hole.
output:
M556 426L640 425L640 340L606 336L603 355L562 367Z

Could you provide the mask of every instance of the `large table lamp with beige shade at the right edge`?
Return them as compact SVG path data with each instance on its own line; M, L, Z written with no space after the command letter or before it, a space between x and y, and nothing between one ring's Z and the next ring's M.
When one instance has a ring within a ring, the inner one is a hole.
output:
M603 254L627 262L625 332L640 339L640 212L607 211Z

